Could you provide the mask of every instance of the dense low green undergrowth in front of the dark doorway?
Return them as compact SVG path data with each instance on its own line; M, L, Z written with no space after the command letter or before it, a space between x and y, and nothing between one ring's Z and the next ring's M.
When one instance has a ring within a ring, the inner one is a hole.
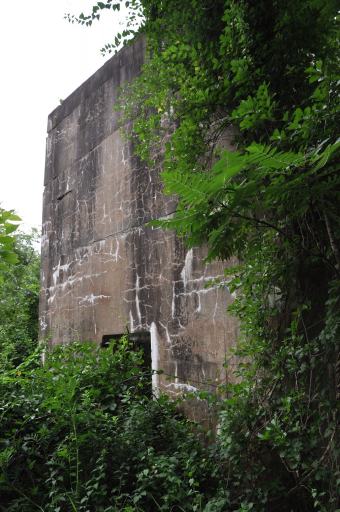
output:
M196 510L218 486L214 446L126 339L36 350L0 377L0 510Z

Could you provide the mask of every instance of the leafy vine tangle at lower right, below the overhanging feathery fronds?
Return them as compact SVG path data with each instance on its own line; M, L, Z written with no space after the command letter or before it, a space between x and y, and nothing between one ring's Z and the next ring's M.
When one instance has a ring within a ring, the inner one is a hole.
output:
M309 303L292 290L294 267L282 257L273 265L272 251L280 248L268 237L256 259L226 271L241 337L229 354L238 361L231 382L220 386L220 401L210 398L220 425L220 492L232 511L337 511L340 290L330 282L326 308L321 292Z

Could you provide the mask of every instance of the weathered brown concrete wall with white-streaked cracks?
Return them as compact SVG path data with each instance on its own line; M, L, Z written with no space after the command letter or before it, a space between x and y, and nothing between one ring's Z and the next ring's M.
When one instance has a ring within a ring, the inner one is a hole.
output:
M100 343L125 323L149 331L153 367L183 377L171 384L180 391L187 380L215 380L237 327L225 313L229 292L204 288L222 264L202 267L204 249L188 251L174 232L146 225L176 204L123 141L113 110L143 55L141 40L122 49L49 116L40 335L58 326L54 345Z

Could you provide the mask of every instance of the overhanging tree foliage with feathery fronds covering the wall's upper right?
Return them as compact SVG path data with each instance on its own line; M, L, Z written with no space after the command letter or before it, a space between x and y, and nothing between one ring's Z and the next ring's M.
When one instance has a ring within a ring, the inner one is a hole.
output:
M154 224L176 229L189 245L207 241L209 259L242 252L267 212L273 225L288 211L296 218L326 209L333 215L337 6L267 4L223 3L219 19L214 2L215 31L207 20L213 8L204 2L187 4L192 15L176 2L171 12L157 4L156 20L144 26L150 60L123 92L123 121L135 119L126 136L136 143L137 134L137 153L151 164L165 141L164 190L179 198L174 218ZM285 40L293 16L294 36ZM304 36L306 23L311 37ZM220 159L225 138L238 151L225 149Z

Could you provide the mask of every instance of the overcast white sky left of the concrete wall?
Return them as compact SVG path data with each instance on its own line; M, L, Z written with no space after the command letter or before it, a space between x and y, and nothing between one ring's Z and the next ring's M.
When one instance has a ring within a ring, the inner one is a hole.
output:
M63 19L95 4L16 0L5 7L0 0L0 202L17 211L26 231L41 225L47 117L112 56L100 48L119 31L114 11L102 11L91 28Z

